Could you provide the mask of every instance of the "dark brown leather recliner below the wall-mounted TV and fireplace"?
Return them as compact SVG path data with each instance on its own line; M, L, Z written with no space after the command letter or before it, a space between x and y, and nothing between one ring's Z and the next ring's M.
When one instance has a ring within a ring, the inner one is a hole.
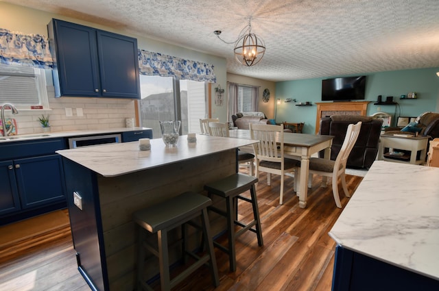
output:
M334 136L331 146L331 160L337 158L342 147L346 130L351 123L361 121L361 129L357 142L348 157L347 168L370 168L377 157L379 136L381 134L381 119L358 115L333 115L320 119L320 133ZM323 151L319 153L323 157Z

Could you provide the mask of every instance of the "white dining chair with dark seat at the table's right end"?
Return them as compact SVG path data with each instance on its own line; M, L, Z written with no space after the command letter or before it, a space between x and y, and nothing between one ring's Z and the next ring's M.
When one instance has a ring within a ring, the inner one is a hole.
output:
M351 197L351 194L348 192L348 188L346 187L346 162L348 160L349 154L351 153L355 142L357 142L357 138L359 136L359 130L361 129L361 121L357 124L348 125L348 129L346 131L346 137L344 138L344 142L342 144L342 148L337 155L335 161L324 159L321 157L311 157L309 159L309 179L308 179L308 188L311 188L313 174L321 175L323 177L331 177L332 178L332 192L334 195L335 205L341 208L342 203L340 202L340 195L338 194L338 178L342 180L342 187L344 194L346 197Z

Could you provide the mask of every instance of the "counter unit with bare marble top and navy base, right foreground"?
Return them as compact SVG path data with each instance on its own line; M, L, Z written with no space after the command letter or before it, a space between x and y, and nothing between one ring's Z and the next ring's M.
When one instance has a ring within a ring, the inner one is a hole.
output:
M375 161L329 235L333 290L439 290L439 168Z

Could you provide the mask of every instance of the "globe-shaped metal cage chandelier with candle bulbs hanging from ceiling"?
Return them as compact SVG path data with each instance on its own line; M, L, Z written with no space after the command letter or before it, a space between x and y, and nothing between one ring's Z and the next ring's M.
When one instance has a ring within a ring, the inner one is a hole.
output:
M222 40L222 38L219 37L221 32L220 30L213 31L219 40ZM261 62L265 53L265 43L263 39L252 33L251 17L248 20L248 25L241 30L235 42L226 42L224 40L222 40L222 42L229 45L235 43L235 49L233 49L235 59L245 66L254 66Z

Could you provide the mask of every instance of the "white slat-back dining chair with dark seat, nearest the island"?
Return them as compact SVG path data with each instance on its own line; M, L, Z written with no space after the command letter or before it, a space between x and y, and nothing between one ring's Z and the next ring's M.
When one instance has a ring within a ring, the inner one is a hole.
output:
M281 192L279 204L283 204L283 180L287 173L294 173L294 185L298 183L300 161L284 157L283 154L283 125L263 125L250 123L252 140L256 157L256 177L259 172L267 173L267 184L271 186L271 174L281 175Z

